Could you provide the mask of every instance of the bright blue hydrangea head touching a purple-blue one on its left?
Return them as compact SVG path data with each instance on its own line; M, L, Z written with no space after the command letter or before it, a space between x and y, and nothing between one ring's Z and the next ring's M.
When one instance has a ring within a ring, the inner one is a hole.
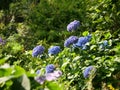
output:
M88 35L86 37L80 37L77 41L77 43L75 43L73 46L75 47L80 47L82 49L86 49L86 43L89 42L89 40L91 39L91 35Z

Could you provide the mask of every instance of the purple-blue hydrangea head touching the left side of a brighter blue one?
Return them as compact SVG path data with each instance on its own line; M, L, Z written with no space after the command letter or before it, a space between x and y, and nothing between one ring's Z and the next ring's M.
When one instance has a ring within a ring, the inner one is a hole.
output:
M65 47L69 47L71 44L74 44L78 41L78 37L77 36L70 36L69 38L67 38L64 42L64 46Z

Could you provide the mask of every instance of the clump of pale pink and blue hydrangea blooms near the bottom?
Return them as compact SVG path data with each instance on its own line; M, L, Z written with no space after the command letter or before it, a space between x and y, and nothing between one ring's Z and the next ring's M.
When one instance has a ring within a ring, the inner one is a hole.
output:
M38 83L43 84L45 81L57 80L62 75L62 72L60 70L55 71L55 67L53 64L46 66L46 72L46 74L39 76L40 70L37 70L36 74L38 76L35 77L35 80Z

